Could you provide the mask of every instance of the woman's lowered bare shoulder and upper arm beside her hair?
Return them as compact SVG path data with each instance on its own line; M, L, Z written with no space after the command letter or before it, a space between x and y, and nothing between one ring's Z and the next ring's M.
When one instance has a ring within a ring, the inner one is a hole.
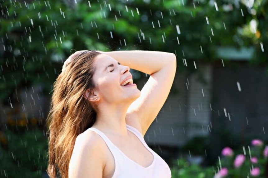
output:
M102 177L105 166L105 142L93 131L77 136L69 164L69 178Z

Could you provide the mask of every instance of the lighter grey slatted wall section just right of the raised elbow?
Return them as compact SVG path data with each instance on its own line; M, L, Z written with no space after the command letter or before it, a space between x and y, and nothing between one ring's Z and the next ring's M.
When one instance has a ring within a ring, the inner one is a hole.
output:
M210 100L212 66L200 65L199 72L176 73L172 91L145 135L150 145L183 146L194 136L211 131Z

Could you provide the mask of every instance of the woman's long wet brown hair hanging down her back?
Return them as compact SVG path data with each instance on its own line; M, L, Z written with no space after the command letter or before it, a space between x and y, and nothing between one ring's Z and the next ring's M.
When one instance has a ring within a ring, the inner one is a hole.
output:
M93 50L73 54L71 62L53 84L53 95L47 119L49 125L49 177L68 177L68 166L76 137L96 120L96 107L84 98L87 89L96 88L93 81ZM70 58L69 57L69 58Z

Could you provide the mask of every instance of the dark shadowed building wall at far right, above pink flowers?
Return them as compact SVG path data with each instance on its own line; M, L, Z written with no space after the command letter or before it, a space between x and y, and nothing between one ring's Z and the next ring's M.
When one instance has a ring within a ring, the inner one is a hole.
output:
M249 139L267 141L267 68L248 62L233 62L229 67L215 65L212 84L212 107L216 112L211 117L211 138L215 151L219 153L224 146L247 145Z

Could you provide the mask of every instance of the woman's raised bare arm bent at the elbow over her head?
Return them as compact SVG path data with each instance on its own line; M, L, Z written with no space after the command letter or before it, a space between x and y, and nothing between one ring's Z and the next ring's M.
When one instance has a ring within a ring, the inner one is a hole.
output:
M169 95L176 72L176 56L160 51L111 51L104 54L122 65L150 75L141 90L141 96L128 108L127 123L136 126L138 121L144 136Z

